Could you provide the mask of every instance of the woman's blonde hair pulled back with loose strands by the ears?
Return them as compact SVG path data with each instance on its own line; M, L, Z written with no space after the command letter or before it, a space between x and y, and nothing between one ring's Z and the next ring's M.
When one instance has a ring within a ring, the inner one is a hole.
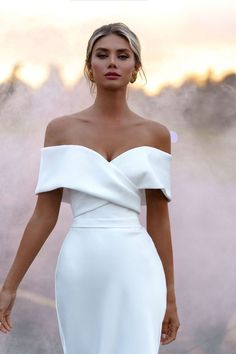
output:
M120 37L123 37L129 42L130 47L134 53L135 66L137 67L137 71L140 72L140 70L142 70L144 77L146 79L146 76L145 76L145 73L144 73L144 70L142 67L142 62L141 62L141 45L140 45L138 37L124 23L121 23L121 22L110 23L109 25L103 25L103 26L97 28L93 32L93 34L90 37L88 44L87 44L86 59L85 59L85 66L84 66L84 75L85 75L85 78L88 80L89 84L91 85L90 90L92 90L93 87L95 86L95 84L93 82L91 82L89 79L89 66L91 63L91 56L92 56L93 47L98 39L105 37L111 33L116 34Z

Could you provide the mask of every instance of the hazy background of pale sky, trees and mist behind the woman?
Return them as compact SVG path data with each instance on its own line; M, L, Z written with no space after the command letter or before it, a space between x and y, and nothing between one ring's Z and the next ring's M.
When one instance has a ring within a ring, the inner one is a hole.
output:
M236 352L235 10L230 1L201 0L0 3L0 282L36 202L47 122L92 104L82 77L87 41L97 27L124 22L140 38L148 80L129 86L129 106L172 134L169 209L181 328L160 353ZM0 354L62 354L54 270L71 220L63 203L18 290L14 328L0 335Z

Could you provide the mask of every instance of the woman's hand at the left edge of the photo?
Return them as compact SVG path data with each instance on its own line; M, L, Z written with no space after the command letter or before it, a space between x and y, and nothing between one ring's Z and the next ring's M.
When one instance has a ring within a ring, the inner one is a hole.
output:
M12 329L11 310L16 298L16 291L0 291L0 331L7 333Z

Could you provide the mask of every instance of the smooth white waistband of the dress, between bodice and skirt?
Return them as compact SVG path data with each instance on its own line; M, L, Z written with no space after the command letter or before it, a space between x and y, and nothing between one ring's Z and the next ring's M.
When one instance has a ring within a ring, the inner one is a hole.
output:
M72 221L71 228L77 227L141 227L141 223L137 215L127 217L84 217L79 215Z

